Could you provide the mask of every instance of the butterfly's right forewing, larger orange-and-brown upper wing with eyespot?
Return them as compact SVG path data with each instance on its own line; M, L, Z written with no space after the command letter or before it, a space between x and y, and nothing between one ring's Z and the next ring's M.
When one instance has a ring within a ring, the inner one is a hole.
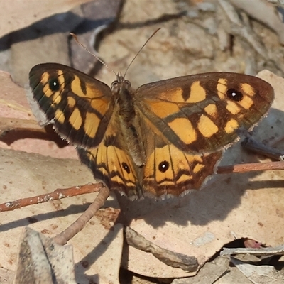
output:
M233 142L266 114L273 88L253 76L226 72L177 77L141 86L144 119L182 151L211 153Z

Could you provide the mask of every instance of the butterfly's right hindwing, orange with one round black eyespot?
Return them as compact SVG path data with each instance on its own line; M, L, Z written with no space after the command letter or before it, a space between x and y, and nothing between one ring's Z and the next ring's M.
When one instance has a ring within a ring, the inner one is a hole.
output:
M146 126L143 127L145 129ZM215 172L222 151L192 154L167 143L163 136L148 129L144 141L146 163L141 169L144 195L160 197L178 196L200 188L204 180Z

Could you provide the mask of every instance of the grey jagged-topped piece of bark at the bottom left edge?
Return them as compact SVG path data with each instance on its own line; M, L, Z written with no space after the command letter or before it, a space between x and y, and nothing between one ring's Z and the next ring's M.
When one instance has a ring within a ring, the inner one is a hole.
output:
M53 239L26 227L21 240L15 283L77 283L72 246L55 244Z

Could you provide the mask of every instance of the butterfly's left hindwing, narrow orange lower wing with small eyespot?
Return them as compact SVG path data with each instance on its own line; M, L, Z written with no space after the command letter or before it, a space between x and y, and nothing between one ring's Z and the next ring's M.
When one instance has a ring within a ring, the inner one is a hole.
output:
M94 177L109 188L119 190L129 197L142 197L139 170L127 149L124 148L119 125L109 124L102 142L96 148L77 148L80 160Z

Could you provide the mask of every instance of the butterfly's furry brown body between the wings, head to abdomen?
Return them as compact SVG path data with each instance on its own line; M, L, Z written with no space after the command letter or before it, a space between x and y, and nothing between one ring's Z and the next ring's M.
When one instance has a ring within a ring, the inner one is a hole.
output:
M134 107L134 93L131 83L125 80L119 72L116 81L111 84L111 90L118 109L117 113L119 114L119 123L126 143L126 150L129 151L136 165L144 165L146 155L141 142L143 139Z

